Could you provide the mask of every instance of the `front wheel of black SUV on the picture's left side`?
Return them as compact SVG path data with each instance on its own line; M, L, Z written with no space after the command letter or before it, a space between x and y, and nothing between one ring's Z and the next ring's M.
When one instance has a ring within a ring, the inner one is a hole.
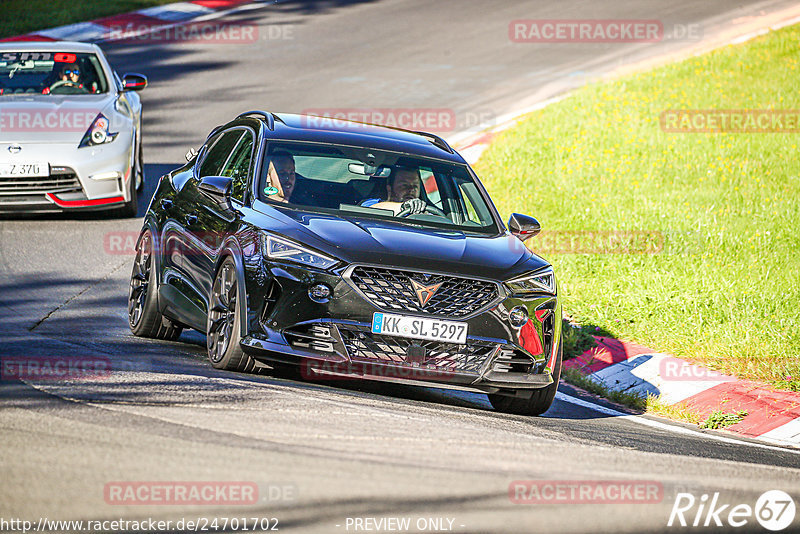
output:
M245 354L240 345L241 312L236 264L228 256L220 265L208 299L206 347L208 361L216 369L249 373L255 360Z

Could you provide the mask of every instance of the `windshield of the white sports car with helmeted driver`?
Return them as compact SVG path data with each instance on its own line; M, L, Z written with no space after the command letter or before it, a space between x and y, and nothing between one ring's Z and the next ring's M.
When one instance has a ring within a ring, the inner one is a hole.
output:
M108 91L95 54L0 52L0 95L81 95Z

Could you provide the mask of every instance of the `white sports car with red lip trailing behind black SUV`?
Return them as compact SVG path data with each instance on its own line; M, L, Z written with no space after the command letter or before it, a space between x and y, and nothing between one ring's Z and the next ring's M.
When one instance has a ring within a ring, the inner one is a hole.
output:
M146 86L94 44L0 43L0 212L135 217Z

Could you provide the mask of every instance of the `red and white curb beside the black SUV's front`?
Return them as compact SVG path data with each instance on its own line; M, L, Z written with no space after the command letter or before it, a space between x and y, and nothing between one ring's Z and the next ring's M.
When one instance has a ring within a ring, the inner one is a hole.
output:
M615 391L656 395L707 417L712 412L745 411L725 430L778 445L800 447L800 393L779 391L614 338L596 337L598 346L564 366L577 369Z

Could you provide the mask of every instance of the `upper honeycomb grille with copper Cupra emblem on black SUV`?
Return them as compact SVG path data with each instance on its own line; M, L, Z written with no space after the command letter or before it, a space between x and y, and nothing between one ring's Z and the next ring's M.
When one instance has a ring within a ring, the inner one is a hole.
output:
M359 266L351 282L384 311L412 311L446 317L466 317L494 302L497 284L457 276L416 273L383 267ZM411 280L426 287L441 284L423 306Z

